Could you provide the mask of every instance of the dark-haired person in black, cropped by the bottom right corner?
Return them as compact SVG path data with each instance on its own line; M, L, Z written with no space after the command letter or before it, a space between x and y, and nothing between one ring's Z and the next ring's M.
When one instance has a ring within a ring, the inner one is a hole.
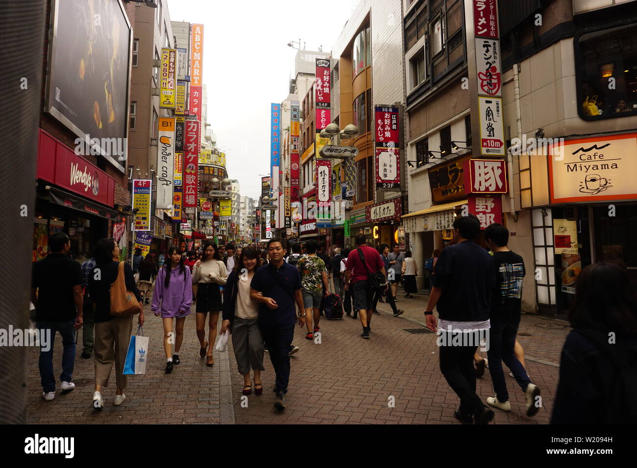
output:
M553 424L637 422L637 296L626 270L585 267L577 278ZM622 368L623 367L623 368Z

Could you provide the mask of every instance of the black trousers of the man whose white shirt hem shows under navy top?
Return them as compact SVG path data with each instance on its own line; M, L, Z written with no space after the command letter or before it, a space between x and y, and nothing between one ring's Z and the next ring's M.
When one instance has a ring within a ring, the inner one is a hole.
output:
M450 346L457 334L442 332L442 335L438 339L442 339L441 343L447 346L439 347L440 371L460 398L460 411L466 415L476 415L484 406L476 395L476 374L473 367L473 355L478 346Z

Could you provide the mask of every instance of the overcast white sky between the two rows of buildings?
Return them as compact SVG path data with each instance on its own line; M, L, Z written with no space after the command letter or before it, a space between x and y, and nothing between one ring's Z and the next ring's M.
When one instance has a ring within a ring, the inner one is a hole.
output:
M204 25L208 122L226 150L228 175L257 198L269 175L270 103L289 93L296 49L332 46L359 0L168 0L170 19ZM327 14L329 13L329 17Z

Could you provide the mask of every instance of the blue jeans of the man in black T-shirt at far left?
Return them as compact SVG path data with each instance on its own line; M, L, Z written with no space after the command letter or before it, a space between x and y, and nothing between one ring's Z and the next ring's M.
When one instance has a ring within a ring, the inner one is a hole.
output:
M73 365L75 364L75 319L68 322L38 322L37 327L40 334L50 332L50 348L43 351L40 348L39 371L42 382L42 389L45 393L55 392L55 376L53 374L53 347L55 342L55 332L60 332L62 336L62 382L70 382L73 378Z

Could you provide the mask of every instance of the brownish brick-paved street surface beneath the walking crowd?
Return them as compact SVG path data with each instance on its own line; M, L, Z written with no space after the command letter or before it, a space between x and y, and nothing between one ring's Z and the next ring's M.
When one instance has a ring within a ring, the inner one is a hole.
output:
M457 398L438 369L436 336L408 334L404 329L421 328L425 295L397 304L405 309L394 318L387 304L379 304L380 316L372 320L371 339L359 337L359 320L321 322L322 343L304 339L304 329L296 327L294 343L301 351L292 357L288 408L276 413L271 393L274 374L266 353L263 372L264 393L248 397L241 406L243 378L236 371L231 345L227 353L215 351L215 366L206 367L199 358L194 314L186 320L180 352L182 364L172 374L164 374L161 320L145 307L146 336L150 337L147 374L129 376L127 400L113 406L114 376L103 392L102 411L91 406L93 359L84 360L80 331L73 379L76 388L68 394L56 392L55 400L41 399L38 348L29 351L29 423L457 423L453 410ZM540 386L545 408L532 419L520 416L524 395L507 377L513 411L496 410L494 423L548 423L557 384L559 352L568 324L540 316L522 317L520 336L527 367ZM59 376L61 339L55 341L54 369ZM506 370L506 369L505 369ZM114 371L113 371L114 372ZM508 371L506 371L508 374ZM230 379L232 386L230 386ZM493 394L489 371L478 381L478 394ZM389 408L389 397L395 407ZM232 414L234 402L234 415ZM245 405L244 405L245 406Z

